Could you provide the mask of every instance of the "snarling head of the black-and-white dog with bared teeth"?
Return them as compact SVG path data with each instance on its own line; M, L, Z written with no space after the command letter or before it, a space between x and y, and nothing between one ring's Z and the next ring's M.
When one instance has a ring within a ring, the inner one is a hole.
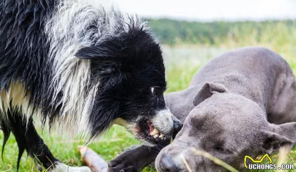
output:
M92 136L115 123L138 139L155 144L170 139L170 133L180 129L180 122L164 103L162 52L148 30L130 28L82 48L76 56L90 60L91 84L97 87L89 117Z

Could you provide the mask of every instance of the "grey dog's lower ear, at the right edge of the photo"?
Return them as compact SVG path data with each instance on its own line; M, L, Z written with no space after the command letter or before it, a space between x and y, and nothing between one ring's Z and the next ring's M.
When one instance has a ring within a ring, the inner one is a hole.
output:
M264 131L262 152L271 154L281 146L296 143L296 122L288 122L281 125L270 124L271 131Z

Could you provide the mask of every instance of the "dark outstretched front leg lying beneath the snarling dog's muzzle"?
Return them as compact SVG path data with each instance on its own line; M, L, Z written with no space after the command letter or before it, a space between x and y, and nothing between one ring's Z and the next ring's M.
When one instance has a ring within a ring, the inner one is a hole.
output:
M169 142L156 146L139 145L131 148L108 163L108 172L139 172L151 164L160 150Z

